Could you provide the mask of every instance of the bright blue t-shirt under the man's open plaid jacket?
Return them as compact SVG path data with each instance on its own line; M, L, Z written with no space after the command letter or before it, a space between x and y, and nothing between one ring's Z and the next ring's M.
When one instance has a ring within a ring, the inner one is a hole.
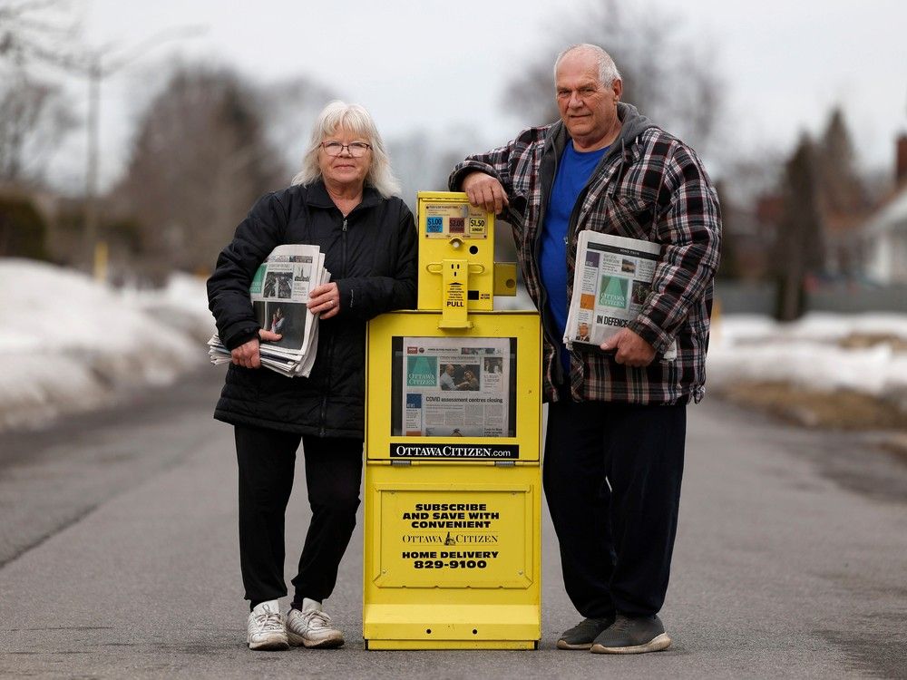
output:
M567 227L580 191L589 182L592 172L608 149L609 147L598 151L576 151L571 140L561 154L561 165L554 178L548 208L545 209L539 267L541 285L548 294L548 311L557 324L561 334L559 338L563 337L564 328L567 327ZM569 375L570 353L563 343L560 347L561 365L565 374Z

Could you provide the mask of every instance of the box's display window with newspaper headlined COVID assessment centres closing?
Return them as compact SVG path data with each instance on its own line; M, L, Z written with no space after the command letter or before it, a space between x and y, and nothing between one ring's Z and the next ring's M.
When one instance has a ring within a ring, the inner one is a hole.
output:
M395 357L393 432L515 436L513 338L403 337Z

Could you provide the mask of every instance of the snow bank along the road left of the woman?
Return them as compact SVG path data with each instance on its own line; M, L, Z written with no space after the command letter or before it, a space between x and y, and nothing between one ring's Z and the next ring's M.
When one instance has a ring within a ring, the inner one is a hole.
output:
M73 270L0 259L0 429L111 403L203 365L213 323L204 286L174 279L121 293Z

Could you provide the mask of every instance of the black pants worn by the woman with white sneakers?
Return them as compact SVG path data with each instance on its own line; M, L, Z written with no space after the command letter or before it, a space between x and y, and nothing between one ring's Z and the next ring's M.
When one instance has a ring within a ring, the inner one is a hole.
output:
M326 599L356 527L362 482L362 440L318 438L237 425L239 461L239 564L246 599L259 602L287 595L284 582L284 515L296 451L306 458L312 521L293 579L294 603ZM298 529L292 528L293 534Z

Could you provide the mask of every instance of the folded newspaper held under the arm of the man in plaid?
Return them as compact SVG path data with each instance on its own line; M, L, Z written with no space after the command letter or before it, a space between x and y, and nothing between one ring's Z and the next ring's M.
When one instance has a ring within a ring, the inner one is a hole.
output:
M564 344L601 345L636 318L652 291L660 253L651 241L580 231ZM664 358L677 358L677 341Z

